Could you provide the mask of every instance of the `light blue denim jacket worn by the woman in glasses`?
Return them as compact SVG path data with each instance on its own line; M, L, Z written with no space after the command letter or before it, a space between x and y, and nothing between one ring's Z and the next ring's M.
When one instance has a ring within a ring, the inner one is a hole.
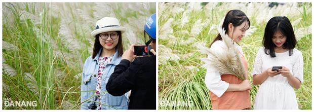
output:
M92 59L92 56L90 56L84 63L81 85L81 103L83 103L81 104L81 109L89 109L90 105L95 102L97 74L99 69L98 59L101 50L102 49L99 50L94 59ZM122 96L112 96L111 94L107 93L106 90L106 84L111 76L111 73L113 72L114 67L120 63L120 61L121 57L118 57L118 52L116 50L111 62L106 65L101 77L101 109L128 109L128 92ZM98 103L95 104L98 106Z

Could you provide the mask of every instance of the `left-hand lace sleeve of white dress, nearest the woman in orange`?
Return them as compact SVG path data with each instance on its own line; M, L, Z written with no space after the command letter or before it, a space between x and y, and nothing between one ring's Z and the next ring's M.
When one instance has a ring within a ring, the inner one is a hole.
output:
M252 70L252 75L262 73L262 53L264 53L264 49L261 48L258 50L257 55L255 57L254 66Z

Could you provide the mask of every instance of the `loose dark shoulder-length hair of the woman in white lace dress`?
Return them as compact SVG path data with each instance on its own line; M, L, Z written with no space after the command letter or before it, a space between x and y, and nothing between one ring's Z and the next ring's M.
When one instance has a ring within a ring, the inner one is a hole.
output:
M274 48L276 45L272 42L272 36L276 31L280 31L287 37L286 42L283 45L284 49L289 49L289 56L293 54L293 49L297 44L294 31L289 19L285 16L272 17L266 24L263 45L265 47L264 52L270 57L276 57Z

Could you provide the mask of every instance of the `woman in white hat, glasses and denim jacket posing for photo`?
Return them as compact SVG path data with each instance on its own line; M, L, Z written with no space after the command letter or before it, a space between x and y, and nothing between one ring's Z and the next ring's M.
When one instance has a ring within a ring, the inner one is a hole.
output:
M93 55L86 59L82 73L81 109L128 108L128 93L112 96L106 91L108 79L121 61L125 31L116 18L104 17L96 22L91 32L95 38Z

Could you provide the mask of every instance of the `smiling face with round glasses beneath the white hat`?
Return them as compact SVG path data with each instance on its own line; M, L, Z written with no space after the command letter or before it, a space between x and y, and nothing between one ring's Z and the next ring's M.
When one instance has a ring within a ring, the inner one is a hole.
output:
M112 50L119 42L120 35L116 31L108 31L99 34L99 43L106 50Z

